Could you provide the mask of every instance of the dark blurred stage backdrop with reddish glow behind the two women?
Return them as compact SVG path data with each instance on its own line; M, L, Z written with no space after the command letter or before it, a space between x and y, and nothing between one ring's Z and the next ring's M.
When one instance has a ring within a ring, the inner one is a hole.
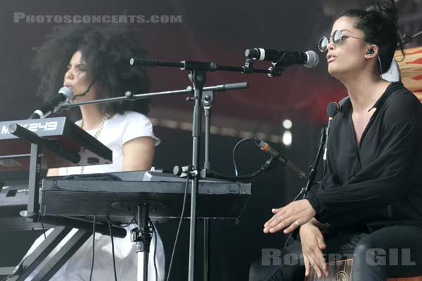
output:
M242 66L246 48L264 47L285 51L318 51L319 38L331 32L333 18L347 8L364 8L366 0L295 1L1 1L0 2L0 121L26 119L41 105L34 95L39 77L31 69L34 47L40 46L54 23L14 22L14 13L26 15L180 15L180 22L133 23L141 30L143 48L150 58L214 61ZM422 30L422 1L396 1L402 34ZM118 24L118 23L115 23ZM422 37L406 47L422 46ZM267 74L214 72L207 74L207 86L248 81L249 88L216 93L212 109L211 169L234 174L231 152L241 138L257 136L269 141L284 157L309 171L319 144L321 126L326 124L326 105L347 96L343 86L326 71L325 54L317 67L289 67L281 77ZM255 63L256 68L270 66ZM148 70L151 91L185 89L188 72L176 68ZM53 94L53 93L51 93ZM193 103L185 96L153 99L151 117L155 135L162 143L154 166L172 169L191 162L191 118ZM247 174L265 162L253 143L238 148L240 174ZM238 224L212 221L211 280L247 280L248 268L263 248L281 248L283 234L264 235L262 225L271 208L287 204L305 185L290 171L279 168L248 181L252 196ZM224 208L224 206L216 206ZM158 231L166 250L166 266L177 223L160 223ZM15 266L30 247L38 230L0 232L0 266ZM202 235L202 222L198 234ZM202 237L198 239L198 245ZM198 257L202 249L198 246ZM186 280L188 270L188 221L182 227L172 280ZM198 259L197 274L202 274Z

